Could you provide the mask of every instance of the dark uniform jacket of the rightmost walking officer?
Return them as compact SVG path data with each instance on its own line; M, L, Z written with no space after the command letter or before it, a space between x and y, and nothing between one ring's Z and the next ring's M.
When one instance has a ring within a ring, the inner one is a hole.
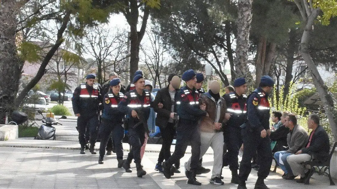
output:
M270 104L268 95L261 87L255 89L247 100L247 126L253 131L261 132L269 128Z

